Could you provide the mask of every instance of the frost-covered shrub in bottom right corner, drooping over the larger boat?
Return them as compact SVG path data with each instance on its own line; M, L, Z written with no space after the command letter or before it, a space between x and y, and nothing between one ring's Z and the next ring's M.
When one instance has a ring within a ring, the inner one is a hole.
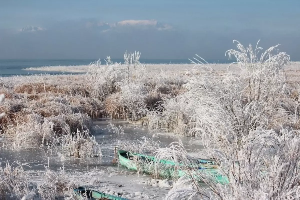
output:
M208 139L208 138L206 138ZM205 185L194 178L182 187L202 198L213 199L297 199L300 191L300 137L299 132L282 129L278 135L274 130L258 128L241 141L227 141L211 147L205 143L205 155L220 163L218 173L229 180L229 184L215 182L213 174L182 168L188 174L196 174ZM219 147L219 148L218 148ZM185 165L196 165L196 158L189 156L179 144L159 149L157 159L172 159ZM167 195L174 197L182 193L181 188L172 189ZM187 192L187 191L185 191Z

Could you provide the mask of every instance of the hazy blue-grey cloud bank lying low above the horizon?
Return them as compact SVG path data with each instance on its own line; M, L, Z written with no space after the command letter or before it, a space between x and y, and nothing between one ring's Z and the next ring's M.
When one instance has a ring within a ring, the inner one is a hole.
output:
M169 28L171 27L171 28ZM214 27L217 29L217 27ZM122 58L124 51L140 51L143 59L188 59L195 53L204 59L226 59L232 40L264 48L281 44L280 51L297 60L300 38L260 29L202 29L191 31L157 20L103 22L97 19L60 21L27 26L23 31L0 29L0 59L98 59Z

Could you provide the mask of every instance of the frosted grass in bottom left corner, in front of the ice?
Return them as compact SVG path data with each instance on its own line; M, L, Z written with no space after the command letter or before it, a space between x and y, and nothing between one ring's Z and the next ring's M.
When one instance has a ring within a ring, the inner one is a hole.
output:
M46 168L42 173L35 175L33 180L33 174L23 170L21 164L16 162L13 165L6 162L4 167L0 167L1 200L75 199L72 198L72 190L77 186L76 180L70 178L66 171L52 171Z

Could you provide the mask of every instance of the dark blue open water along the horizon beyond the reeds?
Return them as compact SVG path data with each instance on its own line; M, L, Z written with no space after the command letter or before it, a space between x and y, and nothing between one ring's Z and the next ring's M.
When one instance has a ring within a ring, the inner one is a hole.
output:
M71 74L67 72L50 71L26 71L23 68L43 67L43 66L74 66L89 65L98 59L0 59L0 77L14 75L35 75L35 74ZM124 62L124 59L111 59L113 62ZM206 60L208 63L231 63L232 60ZM186 64L190 63L188 59L140 59L140 62L148 64ZM101 59L105 64L105 60ZM72 73L76 74L76 73Z

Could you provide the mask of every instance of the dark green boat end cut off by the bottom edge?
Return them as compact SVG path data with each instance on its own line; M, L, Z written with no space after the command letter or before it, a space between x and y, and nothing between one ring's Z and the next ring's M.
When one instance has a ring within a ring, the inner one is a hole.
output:
M73 193L78 199L85 197L92 200L129 200L119 196L106 194L104 192L98 192L92 189L87 189L85 187L78 187L76 189L73 189Z

